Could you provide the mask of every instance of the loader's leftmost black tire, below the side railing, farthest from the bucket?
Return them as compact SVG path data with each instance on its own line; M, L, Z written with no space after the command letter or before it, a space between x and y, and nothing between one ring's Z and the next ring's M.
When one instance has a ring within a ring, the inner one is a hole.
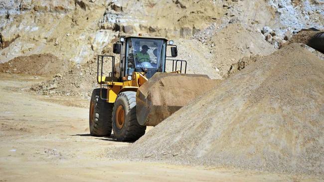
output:
M102 98L107 98L107 89L102 89ZM100 89L92 91L89 111L91 136L110 136L112 130L113 103L100 98Z

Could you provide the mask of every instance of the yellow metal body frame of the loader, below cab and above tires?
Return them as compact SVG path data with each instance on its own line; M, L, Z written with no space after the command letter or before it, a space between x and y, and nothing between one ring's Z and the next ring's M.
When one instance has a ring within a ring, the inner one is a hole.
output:
M148 79L145 73L133 72L132 80L124 82L109 82L106 81L107 77L99 77L99 83L108 86L107 89L107 102L115 103L119 93L123 91L137 91ZM109 80L109 79L107 79Z

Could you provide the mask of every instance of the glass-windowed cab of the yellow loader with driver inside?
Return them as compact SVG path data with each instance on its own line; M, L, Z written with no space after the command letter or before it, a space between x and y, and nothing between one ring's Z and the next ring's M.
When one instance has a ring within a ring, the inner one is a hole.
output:
M150 79L157 72L165 72L166 46L164 38L121 37L114 44L114 53L120 54L120 77L144 72Z

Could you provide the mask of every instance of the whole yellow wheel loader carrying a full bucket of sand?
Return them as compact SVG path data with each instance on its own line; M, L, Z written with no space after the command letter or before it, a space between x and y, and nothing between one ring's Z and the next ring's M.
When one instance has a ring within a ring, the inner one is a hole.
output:
M170 56L167 56L167 47ZM165 38L120 37L113 45L120 57L99 55L97 82L91 96L89 126L92 136L109 136L118 141L136 141L146 126L156 126L166 117L215 86L206 75L186 74L187 62L174 59L177 47ZM112 71L103 75L104 60ZM169 63L169 64L167 64ZM166 66L172 71L166 73Z

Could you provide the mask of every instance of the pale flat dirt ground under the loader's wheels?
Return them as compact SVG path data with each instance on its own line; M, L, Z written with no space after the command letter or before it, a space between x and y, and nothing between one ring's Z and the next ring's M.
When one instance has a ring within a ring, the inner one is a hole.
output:
M285 174L108 159L110 148L131 143L89 136L88 100L24 91L46 79L0 74L0 182L320 181Z

